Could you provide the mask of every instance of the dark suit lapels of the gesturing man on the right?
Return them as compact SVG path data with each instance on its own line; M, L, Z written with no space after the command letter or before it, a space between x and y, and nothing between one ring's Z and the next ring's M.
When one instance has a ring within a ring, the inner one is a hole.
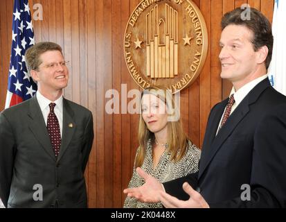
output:
M216 110L217 114L215 113L215 116L213 117L213 123L211 123L210 127L207 129L208 132L206 132L206 142L204 142L202 148L202 158L199 162L198 178L202 176L206 167L208 167L208 164L215 156L215 153L220 150L222 144L224 144L229 135L231 135L235 127L238 126L238 123L240 123L240 121L242 121L242 119L247 115L249 112L249 105L251 105L251 103L255 103L260 94L269 86L270 83L268 78L258 83L258 85L256 85L256 87L254 87L251 92L249 92L249 94L247 94L247 96L241 101L240 105L238 105L224 124L224 127L222 127L222 129L217 133L217 136L215 136L218 124L227 103L227 101L222 101L223 105ZM209 121L211 121L211 119Z

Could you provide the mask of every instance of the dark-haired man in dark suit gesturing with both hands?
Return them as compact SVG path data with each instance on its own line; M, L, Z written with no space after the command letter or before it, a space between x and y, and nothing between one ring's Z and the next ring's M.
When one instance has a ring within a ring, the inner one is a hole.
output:
M137 169L145 185L129 196L165 207L286 207L286 97L267 78L271 24L254 8L242 13L222 18L220 76L233 89L208 117L199 171L162 186Z

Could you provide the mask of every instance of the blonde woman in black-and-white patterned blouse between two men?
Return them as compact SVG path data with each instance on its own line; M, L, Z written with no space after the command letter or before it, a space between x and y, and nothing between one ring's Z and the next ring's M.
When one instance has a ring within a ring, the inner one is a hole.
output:
M159 182L167 182L198 171L201 151L184 133L178 105L175 105L170 90L153 86L143 91L138 139L139 147L129 188L144 184L136 167L141 167ZM163 206L161 203L141 203L127 196L124 207Z

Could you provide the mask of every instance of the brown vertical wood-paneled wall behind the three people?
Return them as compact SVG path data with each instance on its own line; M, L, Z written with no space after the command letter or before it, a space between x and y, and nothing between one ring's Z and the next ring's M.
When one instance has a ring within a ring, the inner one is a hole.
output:
M89 207L122 207L132 176L138 146L136 114L107 114L107 89L124 94L138 89L127 71L123 56L123 35L130 13L138 0L30 0L41 3L43 20L33 21L36 42L57 42L71 61L67 99L93 112L95 139L86 171ZM194 0L208 28L208 56L195 83L181 92L184 129L197 146L202 145L211 107L228 96L231 85L220 78L220 20L242 3L258 8L272 20L274 0ZM12 36L11 0L0 6L0 110L6 98ZM126 96L125 96L126 99ZM130 101L131 99L127 99Z

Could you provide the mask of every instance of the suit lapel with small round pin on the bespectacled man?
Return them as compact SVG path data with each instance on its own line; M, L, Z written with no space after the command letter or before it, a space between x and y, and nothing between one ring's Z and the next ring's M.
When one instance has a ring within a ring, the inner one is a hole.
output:
M71 107L69 106L69 103L67 103L66 99L63 99L62 105L63 105L62 146L60 147L60 154L57 158L57 161L60 161L60 159L64 155L64 152L69 147L69 143L73 138L73 133L75 132L76 128L75 121L73 119L74 116L73 110L71 110Z

